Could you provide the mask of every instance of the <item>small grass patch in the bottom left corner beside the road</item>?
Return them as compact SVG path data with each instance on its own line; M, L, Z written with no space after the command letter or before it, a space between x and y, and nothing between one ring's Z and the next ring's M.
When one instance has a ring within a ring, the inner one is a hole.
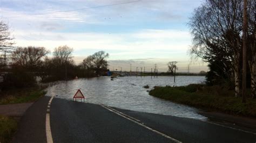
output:
M11 117L0 115L0 142L10 142L17 130L17 121Z

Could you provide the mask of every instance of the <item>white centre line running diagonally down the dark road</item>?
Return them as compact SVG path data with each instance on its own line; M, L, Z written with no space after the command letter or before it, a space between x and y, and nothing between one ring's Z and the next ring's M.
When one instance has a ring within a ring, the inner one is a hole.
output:
M109 111L111 111L111 112L113 112L113 113L116 113L117 115L119 115L119 116L122 116L122 117L124 117L124 118L126 118L126 119L128 119L128 120L130 120L130 121L133 121L134 123L136 123L136 124L138 124L138 125L140 125L140 126L143 126L143 127L145 127L145 128L147 128L148 130L150 130L150 131L153 131L153 132L155 132L155 133L157 133L157 134L160 134L160 135L162 135L163 137L165 137L165 138L167 138L167 139L170 139L170 140L172 140L172 141L175 141L175 142L180 142L181 143L181 141L179 141L179 140L177 140L177 139L174 139L174 138L172 138L172 137L170 137L170 136L168 136L168 135L166 135L166 134L164 134L164 133L161 133L161 132L159 132L159 131L157 131L157 130L154 130L153 128L151 128L151 127L148 127L148 126L146 126L146 125L143 125L142 123L139 123L138 122L138 119L136 119L136 120L134 120L135 118L130 118L130 116L128 116L128 115L126 115L126 114L124 114L124 113L122 113L122 112L117 112L117 110L114 110L114 109L112 109L112 108L110 108L110 107L107 107L107 106L105 106L105 105L102 105L102 104L100 104L103 108L105 108L105 109L107 109L107 110L109 110Z

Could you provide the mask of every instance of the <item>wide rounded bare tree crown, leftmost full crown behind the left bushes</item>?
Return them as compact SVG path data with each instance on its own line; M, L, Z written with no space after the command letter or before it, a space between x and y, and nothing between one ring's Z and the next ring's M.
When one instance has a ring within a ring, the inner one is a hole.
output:
M42 58L48 53L45 47L18 47L12 52L11 60L14 65L32 70L42 65Z

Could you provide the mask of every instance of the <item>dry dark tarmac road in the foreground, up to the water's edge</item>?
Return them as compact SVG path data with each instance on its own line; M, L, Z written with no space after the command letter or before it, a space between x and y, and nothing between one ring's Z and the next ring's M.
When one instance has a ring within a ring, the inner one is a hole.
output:
M206 121L43 97L12 142L256 142L256 133Z

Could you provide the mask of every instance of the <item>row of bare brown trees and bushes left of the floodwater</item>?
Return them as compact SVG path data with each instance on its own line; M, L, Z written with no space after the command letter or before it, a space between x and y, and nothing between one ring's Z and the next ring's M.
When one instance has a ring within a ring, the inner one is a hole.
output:
M0 22L0 74L4 77L0 89L31 87L36 84L36 77L50 82L106 75L109 54L104 51L89 55L76 65L73 48L59 46L49 56L45 47L15 47L8 28Z

